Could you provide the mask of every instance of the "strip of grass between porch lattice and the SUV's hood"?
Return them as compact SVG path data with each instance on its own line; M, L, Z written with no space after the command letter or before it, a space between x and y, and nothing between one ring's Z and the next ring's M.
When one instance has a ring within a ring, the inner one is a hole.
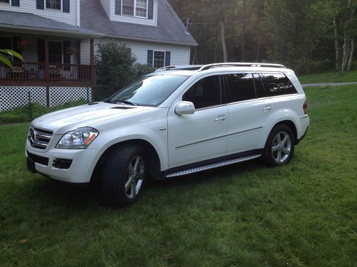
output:
M64 108L72 108L76 105L83 105L86 103L86 100L79 100L74 102L65 103L64 105L59 105L54 108L45 108L39 103L31 104L31 114L29 110L29 105L24 105L14 110L8 110L0 112L0 125L6 125L10 123L19 123L19 122L28 122L32 118L39 117L49 112L56 110L62 110Z

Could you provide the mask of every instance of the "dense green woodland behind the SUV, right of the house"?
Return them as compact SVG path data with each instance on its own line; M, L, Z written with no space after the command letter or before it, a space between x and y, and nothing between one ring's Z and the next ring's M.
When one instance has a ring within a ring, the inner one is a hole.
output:
M198 42L191 51L194 63L223 61L219 34L223 22L228 61L284 63L300 73L333 69L333 18L339 64L343 54L345 63L347 58L356 58L351 48L357 35L357 12L351 15L356 0L169 1L184 24L189 19L188 31Z

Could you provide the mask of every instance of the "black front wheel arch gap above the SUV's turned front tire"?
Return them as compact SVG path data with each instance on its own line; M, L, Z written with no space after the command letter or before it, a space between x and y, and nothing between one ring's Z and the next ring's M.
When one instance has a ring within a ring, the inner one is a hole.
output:
M150 142L142 139L133 139L133 140L125 140L121 142L117 142L110 147L108 147L99 157L98 161L96 162L96 166L91 174L91 182L96 182L101 179L101 172L104 167L104 162L108 159L111 155L111 152L115 150L117 147L121 147L124 145L140 145L144 148L146 152L146 156L149 159L149 174L153 177L159 177L161 173L161 162L158 152L155 150L154 146L151 145Z

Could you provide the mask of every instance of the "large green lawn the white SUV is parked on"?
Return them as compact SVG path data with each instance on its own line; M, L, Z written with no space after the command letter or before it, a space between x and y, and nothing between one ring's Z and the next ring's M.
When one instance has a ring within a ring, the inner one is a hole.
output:
M356 86L308 88L292 161L150 182L125 209L26 171L0 127L0 266L356 266Z

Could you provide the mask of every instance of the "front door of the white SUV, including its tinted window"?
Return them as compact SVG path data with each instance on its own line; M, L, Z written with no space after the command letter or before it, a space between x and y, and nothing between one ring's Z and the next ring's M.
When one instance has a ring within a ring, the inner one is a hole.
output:
M221 77L212 75L198 80L180 100L192 102L196 111L177 115L176 105L169 110L169 167L226 155L228 108L223 104Z

